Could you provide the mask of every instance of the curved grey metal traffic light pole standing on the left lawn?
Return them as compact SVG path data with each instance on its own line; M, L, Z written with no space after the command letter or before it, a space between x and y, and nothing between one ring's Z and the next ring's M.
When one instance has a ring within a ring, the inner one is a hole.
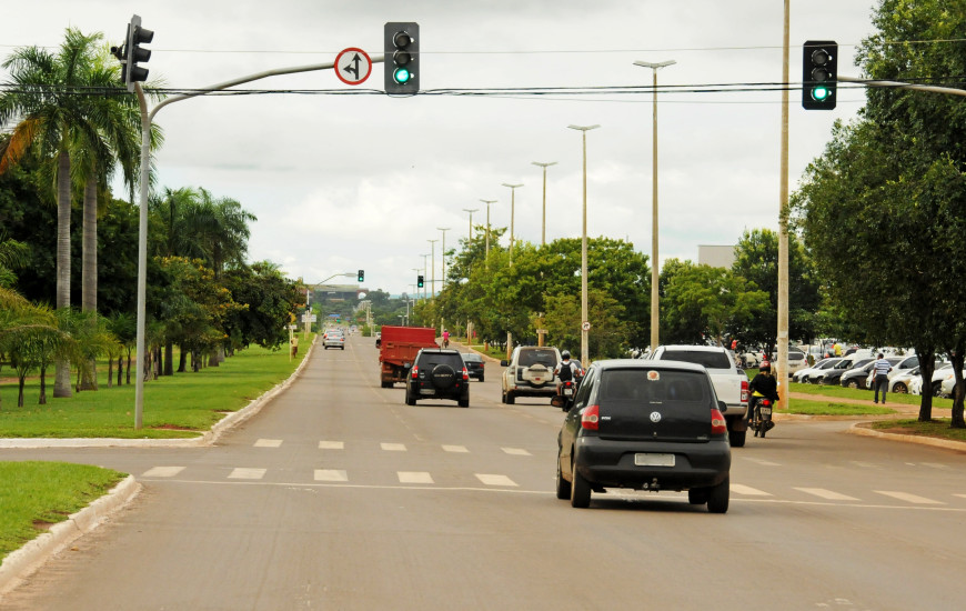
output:
M372 62L380 63L383 61L383 56L373 56ZM298 72L314 72L316 70L330 70L335 68L334 61L325 63L315 63L310 66L295 66L292 68L279 68L275 70L265 70L255 72L248 77L232 79L222 83L213 84L191 93L181 93L172 96L167 100L160 101L153 109L148 110L148 100L144 97L144 90L141 83L134 82L134 92L138 96L138 103L141 107L141 193L140 203L141 212L138 222L138 333L137 333L137 380L134 384L134 429L140 430L143 421L144 412L144 310L145 294L148 286L148 179L150 172L150 150L151 150L151 124L154 121L154 116L168 104L198 98L214 91L222 91L237 84L266 79L269 77L279 77L282 74L295 74ZM335 274L340 276L340 274ZM333 276L332 278L335 278ZM351 276L351 274L349 274Z

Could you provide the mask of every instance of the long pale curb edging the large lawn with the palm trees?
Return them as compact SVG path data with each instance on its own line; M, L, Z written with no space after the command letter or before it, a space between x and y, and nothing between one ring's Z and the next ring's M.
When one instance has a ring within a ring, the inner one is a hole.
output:
M316 337L318 338L318 337ZM38 438L38 439L0 439L0 449L7 448L19 448L19 449L28 449L28 448L201 448L204 445L211 445L215 441L218 441L221 435L231 430L232 428L241 424L249 418L259 413L265 404L268 404L272 399L288 390L290 385L292 385L299 375L302 373L302 370L305 369L305 365L309 363L309 357L312 355L312 351L315 349L315 341L312 341L312 345L309 348L309 351L305 353L305 357L302 359L302 362L299 363L299 367L295 368L295 371L292 372L285 380L279 382L273 388L261 394L259 398L253 399L248 405L244 408L233 411L227 414L224 418L215 422L210 431L207 431L204 434L194 438L188 439L115 439L115 438L69 438L69 439L51 439L51 438Z

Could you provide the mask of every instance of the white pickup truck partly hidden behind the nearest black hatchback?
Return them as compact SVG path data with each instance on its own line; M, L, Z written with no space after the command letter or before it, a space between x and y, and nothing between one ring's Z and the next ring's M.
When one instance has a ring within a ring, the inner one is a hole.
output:
M660 361L685 361L704 365L714 383L718 401L728 409L724 417L728 423L728 441L735 448L745 444L748 422L748 377L735 365L734 355L718 345L658 345L647 355Z

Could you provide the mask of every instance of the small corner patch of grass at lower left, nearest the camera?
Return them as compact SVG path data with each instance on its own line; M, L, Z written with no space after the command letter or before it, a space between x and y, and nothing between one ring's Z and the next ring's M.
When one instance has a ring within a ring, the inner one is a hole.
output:
M127 475L63 462L0 462L0 560Z

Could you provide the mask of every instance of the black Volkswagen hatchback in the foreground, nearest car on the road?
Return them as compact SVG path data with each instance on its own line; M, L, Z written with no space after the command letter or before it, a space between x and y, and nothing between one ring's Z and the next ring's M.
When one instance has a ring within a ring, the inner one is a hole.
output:
M555 403L556 404L556 403ZM707 371L680 361L597 361L557 438L556 497L687 490L692 504L728 509L731 449L723 401Z

